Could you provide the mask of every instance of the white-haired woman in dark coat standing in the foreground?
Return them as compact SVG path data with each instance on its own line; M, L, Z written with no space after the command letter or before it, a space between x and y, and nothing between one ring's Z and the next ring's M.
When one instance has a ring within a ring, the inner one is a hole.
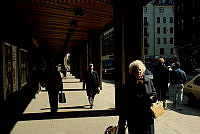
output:
M126 122L129 134L154 134L154 119L150 107L157 101L157 95L152 80L145 77L145 70L146 67L140 60L129 65L129 77L120 98L120 134L125 132Z

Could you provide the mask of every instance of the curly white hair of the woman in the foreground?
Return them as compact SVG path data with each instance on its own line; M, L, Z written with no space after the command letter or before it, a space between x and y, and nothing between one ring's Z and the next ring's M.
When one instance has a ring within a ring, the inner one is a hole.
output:
M142 73L144 73L144 71L146 70L146 66L144 65L144 63L141 60L135 60L135 61L131 62L129 65L129 73L130 74L133 74L135 67L139 67L141 69Z

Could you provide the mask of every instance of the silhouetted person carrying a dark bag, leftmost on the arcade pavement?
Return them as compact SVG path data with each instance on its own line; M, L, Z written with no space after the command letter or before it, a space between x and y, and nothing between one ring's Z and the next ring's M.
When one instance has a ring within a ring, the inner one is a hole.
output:
M63 83L55 61L51 60L48 64L42 83L45 83L45 88L48 91L51 112L55 113L58 110L58 93L63 90Z

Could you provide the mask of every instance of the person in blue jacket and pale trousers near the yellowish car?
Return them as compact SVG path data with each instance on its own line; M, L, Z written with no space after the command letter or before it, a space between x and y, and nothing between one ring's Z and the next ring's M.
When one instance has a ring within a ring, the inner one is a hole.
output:
M187 80L186 73L180 69L180 63L175 62L170 74L170 87L173 90L173 104L178 110L182 110L183 88Z

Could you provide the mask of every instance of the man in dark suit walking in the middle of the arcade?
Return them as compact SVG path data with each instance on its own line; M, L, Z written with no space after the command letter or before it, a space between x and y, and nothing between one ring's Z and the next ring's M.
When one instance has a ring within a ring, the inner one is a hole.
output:
M93 108L95 95L99 93L99 76L96 71L94 71L93 64L89 64L88 71L84 74L83 78L83 89L86 86L86 92L88 96L88 101L90 103L90 108Z

